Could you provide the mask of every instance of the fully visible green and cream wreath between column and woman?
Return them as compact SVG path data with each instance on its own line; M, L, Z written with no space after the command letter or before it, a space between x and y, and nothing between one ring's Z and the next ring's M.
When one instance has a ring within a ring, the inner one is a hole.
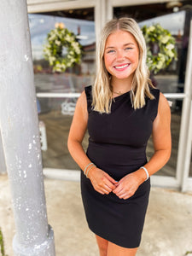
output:
M47 35L47 43L44 44L44 58L49 61L53 71L65 72L67 67L73 67L80 63L82 46L75 34L67 30L63 23L56 23L55 29Z

